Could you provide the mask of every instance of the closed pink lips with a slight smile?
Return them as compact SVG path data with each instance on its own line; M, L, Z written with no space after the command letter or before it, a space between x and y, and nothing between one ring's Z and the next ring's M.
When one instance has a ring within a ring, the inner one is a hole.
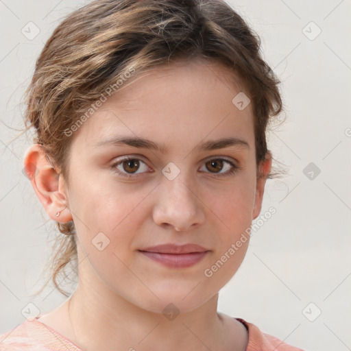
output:
M147 247L138 251L153 261L171 268L191 267L201 261L210 252L210 250L196 244L166 244Z

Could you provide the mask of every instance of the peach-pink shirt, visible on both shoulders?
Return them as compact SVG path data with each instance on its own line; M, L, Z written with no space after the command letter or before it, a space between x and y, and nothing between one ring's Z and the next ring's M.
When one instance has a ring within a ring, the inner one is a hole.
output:
M236 318L249 332L246 351L303 351L261 332L254 324ZM0 351L82 351L71 341L46 324L26 320L16 328L0 335Z

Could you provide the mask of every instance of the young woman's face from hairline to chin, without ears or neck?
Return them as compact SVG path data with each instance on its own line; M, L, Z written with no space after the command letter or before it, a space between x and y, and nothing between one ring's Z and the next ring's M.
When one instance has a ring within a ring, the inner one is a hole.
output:
M258 216L264 182L256 178L252 106L234 106L241 90L227 77L219 64L162 66L121 88L75 132L66 199L87 255L80 276L148 311L173 303L186 312L235 274L249 240L232 244ZM143 252L168 244L203 252Z

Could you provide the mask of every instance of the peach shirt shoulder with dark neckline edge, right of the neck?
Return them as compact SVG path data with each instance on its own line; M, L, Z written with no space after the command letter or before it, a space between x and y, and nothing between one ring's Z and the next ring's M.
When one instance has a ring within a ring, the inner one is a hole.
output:
M249 334L246 351L304 351L301 348L285 343L273 335L261 332L257 326L250 322L246 322L242 318L235 319L246 327Z

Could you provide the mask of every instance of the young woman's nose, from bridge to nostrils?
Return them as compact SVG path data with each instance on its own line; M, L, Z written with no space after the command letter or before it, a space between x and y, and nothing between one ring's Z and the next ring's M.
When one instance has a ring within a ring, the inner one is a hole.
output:
M204 223L204 204L196 186L187 184L182 173L174 180L163 179L157 189L153 217L158 226L183 232Z

